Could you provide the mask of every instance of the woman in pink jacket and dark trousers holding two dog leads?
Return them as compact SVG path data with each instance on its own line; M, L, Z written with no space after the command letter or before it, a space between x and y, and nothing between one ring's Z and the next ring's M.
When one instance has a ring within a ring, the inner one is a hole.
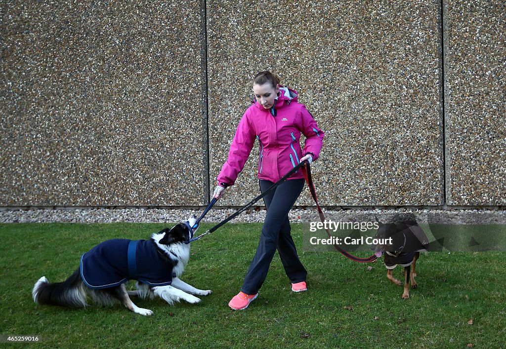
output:
M323 131L306 107L297 103L297 92L283 87L279 82L279 78L269 71L260 72L253 79L255 99L237 126L228 159L217 178L215 198L219 199L225 188L235 183L256 139L260 144L258 178L261 192L279 181L301 161L308 160L311 163L318 158ZM299 143L301 134L306 137L304 149L301 149ZM292 291L307 290L307 272L299 260L288 221L288 211L303 187L302 171L297 170L264 197L267 215L257 252L240 292L229 302L230 308L245 309L258 296L276 249L292 283Z

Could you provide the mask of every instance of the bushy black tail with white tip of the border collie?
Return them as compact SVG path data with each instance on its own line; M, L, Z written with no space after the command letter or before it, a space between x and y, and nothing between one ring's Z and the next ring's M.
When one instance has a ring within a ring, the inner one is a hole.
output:
M49 283L45 276L33 286L32 297L35 303L50 304L67 308L85 308L87 291L82 282L79 269L63 282Z

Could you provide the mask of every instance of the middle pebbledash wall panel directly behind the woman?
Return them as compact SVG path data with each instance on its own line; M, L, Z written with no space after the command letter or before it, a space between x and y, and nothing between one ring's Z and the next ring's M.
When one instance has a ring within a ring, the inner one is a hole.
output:
M223 14L226 14L224 16ZM433 1L207 1L210 177L273 70L325 131L324 205L443 203L441 6ZM258 142L222 203L258 193ZM309 191L298 204L311 204Z

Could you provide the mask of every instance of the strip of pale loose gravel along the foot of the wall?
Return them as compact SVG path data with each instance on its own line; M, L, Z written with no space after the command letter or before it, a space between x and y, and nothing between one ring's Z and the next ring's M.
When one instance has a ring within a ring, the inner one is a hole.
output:
M217 223L237 208L213 208L203 222ZM196 208L0 208L0 223L163 223L182 222L191 214L199 216L204 207ZM371 222L377 217L390 221L396 214L414 214L418 222L448 224L506 224L506 210L500 209L324 209L327 220L334 222ZM252 207L231 222L263 222L266 210ZM315 207L293 208L291 222L319 222Z

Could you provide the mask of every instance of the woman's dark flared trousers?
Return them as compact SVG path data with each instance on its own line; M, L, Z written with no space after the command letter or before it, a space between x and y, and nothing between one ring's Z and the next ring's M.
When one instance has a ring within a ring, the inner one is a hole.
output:
M260 190L263 193L273 184L273 182L260 180ZM276 249L291 283L306 281L307 271L297 254L288 221L288 212L301 194L303 187L303 179L288 180L264 196L267 216L262 227L257 252L244 277L242 292L256 294L262 287Z

